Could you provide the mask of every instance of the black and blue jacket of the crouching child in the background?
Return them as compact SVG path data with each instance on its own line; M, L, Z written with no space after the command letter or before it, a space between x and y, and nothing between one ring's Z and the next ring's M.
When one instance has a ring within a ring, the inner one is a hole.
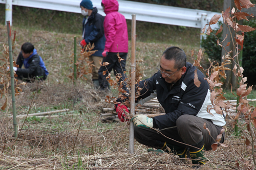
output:
M42 78L45 80L47 78L46 71L40 66L40 57L38 54L33 55L28 60L29 67L28 68L22 68L24 63L24 57L22 55L22 52L19 53L18 58L16 60L16 64L19 65L17 68L16 74L19 79L23 78L35 78L38 76L39 78ZM48 73L48 71L47 71Z

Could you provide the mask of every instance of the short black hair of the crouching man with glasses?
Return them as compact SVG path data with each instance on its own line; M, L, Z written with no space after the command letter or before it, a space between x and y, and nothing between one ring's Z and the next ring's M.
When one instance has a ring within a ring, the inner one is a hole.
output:
M187 57L185 52L177 47L177 46L170 46L168 47L162 55L167 60L174 60L175 61L175 68L182 68L186 66Z

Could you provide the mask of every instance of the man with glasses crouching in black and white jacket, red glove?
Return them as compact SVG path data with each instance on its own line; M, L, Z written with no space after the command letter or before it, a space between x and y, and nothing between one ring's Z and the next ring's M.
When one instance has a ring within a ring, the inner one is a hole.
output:
M209 85L200 70L197 74L201 85L194 84L196 69L186 62L181 48L167 48L157 66L158 72L138 85L142 88L138 101L145 102L157 96L166 114L153 118L135 115L132 122L135 139L157 149L154 152L169 152L169 148L180 158L190 156L193 164L205 164L204 150L211 150L211 144L216 142L226 122L224 116L214 109L210 110L212 115L207 112L207 105L211 105ZM124 112L128 112L127 107L120 99L117 102L120 102L115 105L119 119L127 121L129 118ZM204 129L204 124L212 137ZM224 132L220 143L223 142Z

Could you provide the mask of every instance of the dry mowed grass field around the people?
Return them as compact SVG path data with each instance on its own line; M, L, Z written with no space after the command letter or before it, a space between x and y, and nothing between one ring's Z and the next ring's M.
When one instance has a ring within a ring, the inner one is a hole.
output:
M147 153L147 147L135 141L134 154L129 154L129 125L125 123L103 123L100 113L103 108L114 108L105 102L105 96L118 96L114 88L99 92L87 80L78 79L76 84L69 78L73 72L74 36L77 37L77 54L80 54L80 34L63 34L49 31L12 27L16 31L13 58L16 60L20 46L31 42L44 60L50 72L45 82L20 86L22 92L16 96L17 115L69 109L50 116L33 116L25 120L17 118L18 138L14 138L11 91L8 104L0 111L0 169L191 169L191 160L182 160L174 154ZM139 31L139 30L138 30ZM173 27L162 32L164 36L177 33ZM159 33L157 33L159 34ZM186 33L184 33L186 34ZM187 35L187 34L186 34ZM154 38L154 32L150 34ZM175 35L174 38L179 37ZM143 79L156 72L163 51L169 46L184 49L187 59L191 50L199 50L199 35L195 43L182 40L160 43L138 41L136 60L143 71ZM195 36L192 36L195 38ZM191 41L191 40L190 40ZM0 25L0 57L3 44L8 44L7 27ZM126 69L130 70L131 42ZM207 67L207 58L203 58ZM127 71L129 72L129 71ZM20 83L20 81L18 82ZM4 103L3 96L0 104ZM161 108L153 110L161 113ZM243 169L252 167L251 150L245 139L233 136L232 120L227 119L225 144L216 151L205 152L208 162L200 169ZM237 166L237 161L240 167ZM247 163L246 163L247 162ZM246 165L245 165L246 164ZM253 169L253 168L252 168Z

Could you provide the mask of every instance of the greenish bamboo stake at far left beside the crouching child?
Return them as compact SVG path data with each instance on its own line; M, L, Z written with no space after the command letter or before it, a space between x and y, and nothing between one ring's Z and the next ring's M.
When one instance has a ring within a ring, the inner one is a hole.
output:
M7 23L7 31L8 31L9 60L10 60L10 71L11 71L11 93L12 93L13 128L14 128L14 137L17 137L17 122L16 122L15 91L14 91L14 74L13 74L13 59L12 59L11 26L10 26L10 21L6 21L6 23Z

